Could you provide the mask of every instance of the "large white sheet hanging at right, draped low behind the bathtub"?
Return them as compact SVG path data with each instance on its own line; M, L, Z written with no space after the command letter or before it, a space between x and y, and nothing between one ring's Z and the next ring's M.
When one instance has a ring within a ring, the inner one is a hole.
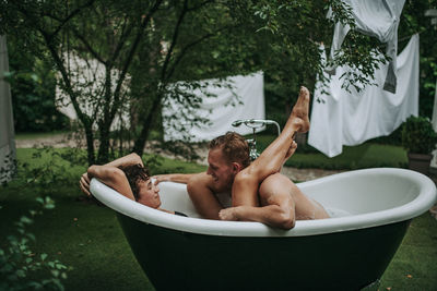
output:
M334 157L342 153L343 145L358 145L388 135L406 118L417 116L418 56L418 35L414 35L398 56L395 94L382 89L389 65L375 72L376 86L369 85L359 93L355 88L351 93L341 88L340 76L349 68L338 68L327 86L318 82L308 143L328 157Z

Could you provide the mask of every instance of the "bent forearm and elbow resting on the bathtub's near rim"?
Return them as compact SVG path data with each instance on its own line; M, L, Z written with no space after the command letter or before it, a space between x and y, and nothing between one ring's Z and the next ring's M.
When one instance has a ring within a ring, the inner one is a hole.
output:
M290 230L295 226L294 202L290 195L276 195L262 207L236 206L222 209L222 220L258 221L268 226Z

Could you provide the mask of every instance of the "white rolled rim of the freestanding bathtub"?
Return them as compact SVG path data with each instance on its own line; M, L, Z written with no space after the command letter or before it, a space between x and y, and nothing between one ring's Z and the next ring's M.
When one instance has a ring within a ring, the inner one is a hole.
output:
M297 220L295 228L285 231L260 222L217 221L175 216L133 202L96 179L92 179L90 189L93 195L109 208L145 223L182 232L225 237L302 237L371 228L412 219L428 210L436 202L436 186L429 178L415 171L398 168L354 170L303 182L299 185L310 186L340 177L367 173L389 173L417 181L421 184L420 195L412 202L391 209L339 218Z

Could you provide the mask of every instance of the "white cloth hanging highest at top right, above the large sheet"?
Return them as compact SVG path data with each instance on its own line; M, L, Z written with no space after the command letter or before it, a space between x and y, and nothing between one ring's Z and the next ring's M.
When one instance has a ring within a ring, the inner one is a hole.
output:
M387 44L386 53L391 58L383 89L395 93L397 89L397 53L398 53L398 26L405 0L343 0L352 8L356 29L363 34L377 37ZM328 17L331 12L328 13ZM332 39L330 58L341 48L343 40L351 27L336 23ZM335 68L328 68L327 72L335 74Z

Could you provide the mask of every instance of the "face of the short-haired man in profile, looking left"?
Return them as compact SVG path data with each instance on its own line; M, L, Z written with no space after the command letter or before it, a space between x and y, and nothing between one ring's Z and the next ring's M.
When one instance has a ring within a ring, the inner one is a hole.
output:
M233 163L228 162L223 156L221 147L210 149L210 153L208 154L208 163L209 167L206 173L212 175L215 184L218 187L231 187L236 172Z

